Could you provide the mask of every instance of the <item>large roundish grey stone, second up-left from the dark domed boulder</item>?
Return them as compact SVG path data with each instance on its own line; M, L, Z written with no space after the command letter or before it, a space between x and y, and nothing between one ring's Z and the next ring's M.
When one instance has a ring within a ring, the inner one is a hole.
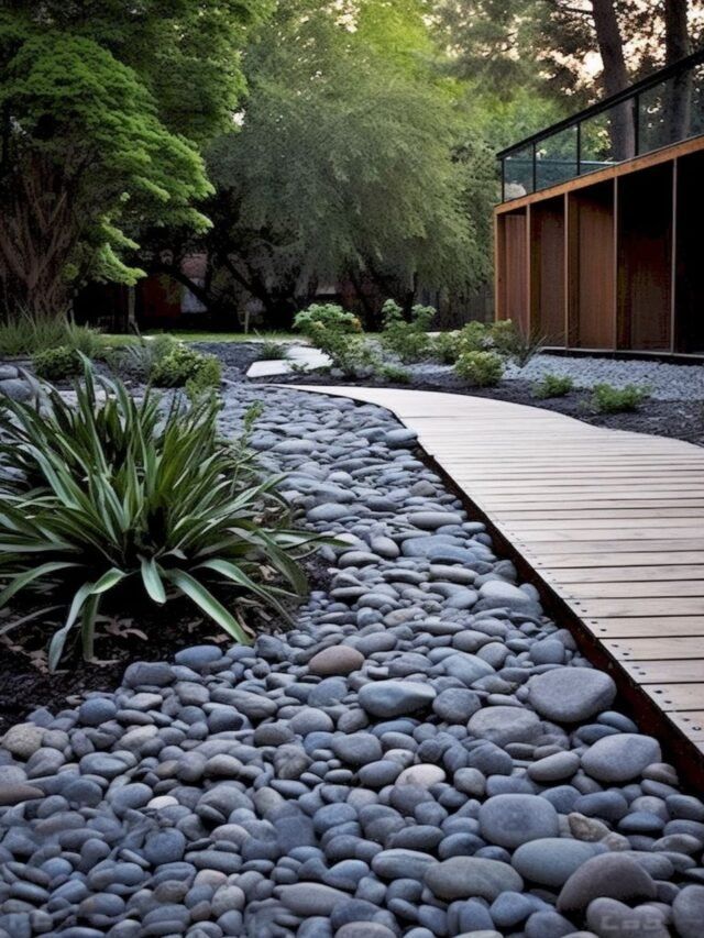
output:
M485 840L509 849L560 832L557 810L539 795L495 795L480 808L479 821Z

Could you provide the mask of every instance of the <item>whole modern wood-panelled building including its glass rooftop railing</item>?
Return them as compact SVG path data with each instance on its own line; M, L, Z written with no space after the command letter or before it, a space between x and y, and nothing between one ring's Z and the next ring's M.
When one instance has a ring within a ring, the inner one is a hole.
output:
M498 154L496 317L704 355L704 51Z

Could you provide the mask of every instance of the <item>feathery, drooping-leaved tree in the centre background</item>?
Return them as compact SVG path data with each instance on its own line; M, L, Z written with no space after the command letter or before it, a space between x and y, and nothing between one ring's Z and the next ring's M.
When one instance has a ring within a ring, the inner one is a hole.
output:
M206 243L270 322L342 278L362 301L370 282L410 301L420 285L486 276L465 187L482 177L488 217L494 167L460 146L470 131L454 82L435 70L424 12L416 0L287 0L246 53L241 128L208 156Z

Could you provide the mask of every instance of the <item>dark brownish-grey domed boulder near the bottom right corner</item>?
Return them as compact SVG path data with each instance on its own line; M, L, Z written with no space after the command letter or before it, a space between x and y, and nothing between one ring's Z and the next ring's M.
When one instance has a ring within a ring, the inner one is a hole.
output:
M558 911L583 912L595 898L654 898L656 892L652 878L630 857L602 853L572 873L558 897Z

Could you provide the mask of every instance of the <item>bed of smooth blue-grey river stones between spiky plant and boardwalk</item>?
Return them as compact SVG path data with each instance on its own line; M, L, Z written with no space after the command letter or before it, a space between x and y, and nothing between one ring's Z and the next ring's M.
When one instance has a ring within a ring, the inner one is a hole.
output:
M700 938L704 804L414 433L254 399L331 586L6 735L0 938Z

